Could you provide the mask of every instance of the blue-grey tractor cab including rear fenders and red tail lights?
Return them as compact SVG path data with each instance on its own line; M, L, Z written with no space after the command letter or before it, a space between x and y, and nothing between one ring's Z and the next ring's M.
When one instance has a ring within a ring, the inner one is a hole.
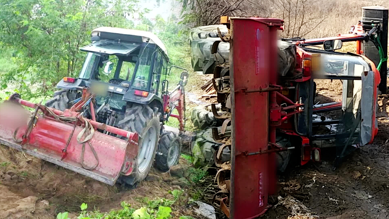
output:
M65 77L57 87L89 87L98 108L109 104L122 115L127 102L155 102L162 113L160 80L168 73L169 58L158 37L140 30L100 27L91 32L91 41L81 48L87 55L78 78Z

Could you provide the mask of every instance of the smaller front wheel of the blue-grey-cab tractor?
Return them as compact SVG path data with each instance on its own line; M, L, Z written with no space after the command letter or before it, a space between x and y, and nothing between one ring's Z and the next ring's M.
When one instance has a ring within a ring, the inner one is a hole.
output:
M170 131L163 133L158 142L154 166L161 171L169 171L170 167L178 164L181 148L181 138L177 134Z

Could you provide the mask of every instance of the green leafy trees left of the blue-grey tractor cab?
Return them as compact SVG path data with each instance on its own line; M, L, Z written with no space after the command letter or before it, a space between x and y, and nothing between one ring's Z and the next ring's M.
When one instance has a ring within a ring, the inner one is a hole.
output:
M0 0L0 42L14 51L18 67L0 75L0 88L18 83L25 98L50 94L63 76L77 76L98 26L133 28L142 14L137 0ZM28 82L26 82L28 81Z

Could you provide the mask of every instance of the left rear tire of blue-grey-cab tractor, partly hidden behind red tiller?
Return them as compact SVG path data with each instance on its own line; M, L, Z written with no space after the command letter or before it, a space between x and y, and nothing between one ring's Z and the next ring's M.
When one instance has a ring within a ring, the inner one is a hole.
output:
M54 92L52 99L46 101L45 106L64 111L72 106L70 102L74 101L76 96L77 92L73 90L58 90Z

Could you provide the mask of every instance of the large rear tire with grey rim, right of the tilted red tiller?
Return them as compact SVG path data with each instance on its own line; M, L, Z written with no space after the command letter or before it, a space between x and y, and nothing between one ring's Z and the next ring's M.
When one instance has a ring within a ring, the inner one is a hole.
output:
M147 105L127 103L124 119L117 126L130 132L137 132L139 138L139 150L137 162L130 176L122 176L117 180L120 184L136 185L147 177L157 151L159 132L158 109Z

